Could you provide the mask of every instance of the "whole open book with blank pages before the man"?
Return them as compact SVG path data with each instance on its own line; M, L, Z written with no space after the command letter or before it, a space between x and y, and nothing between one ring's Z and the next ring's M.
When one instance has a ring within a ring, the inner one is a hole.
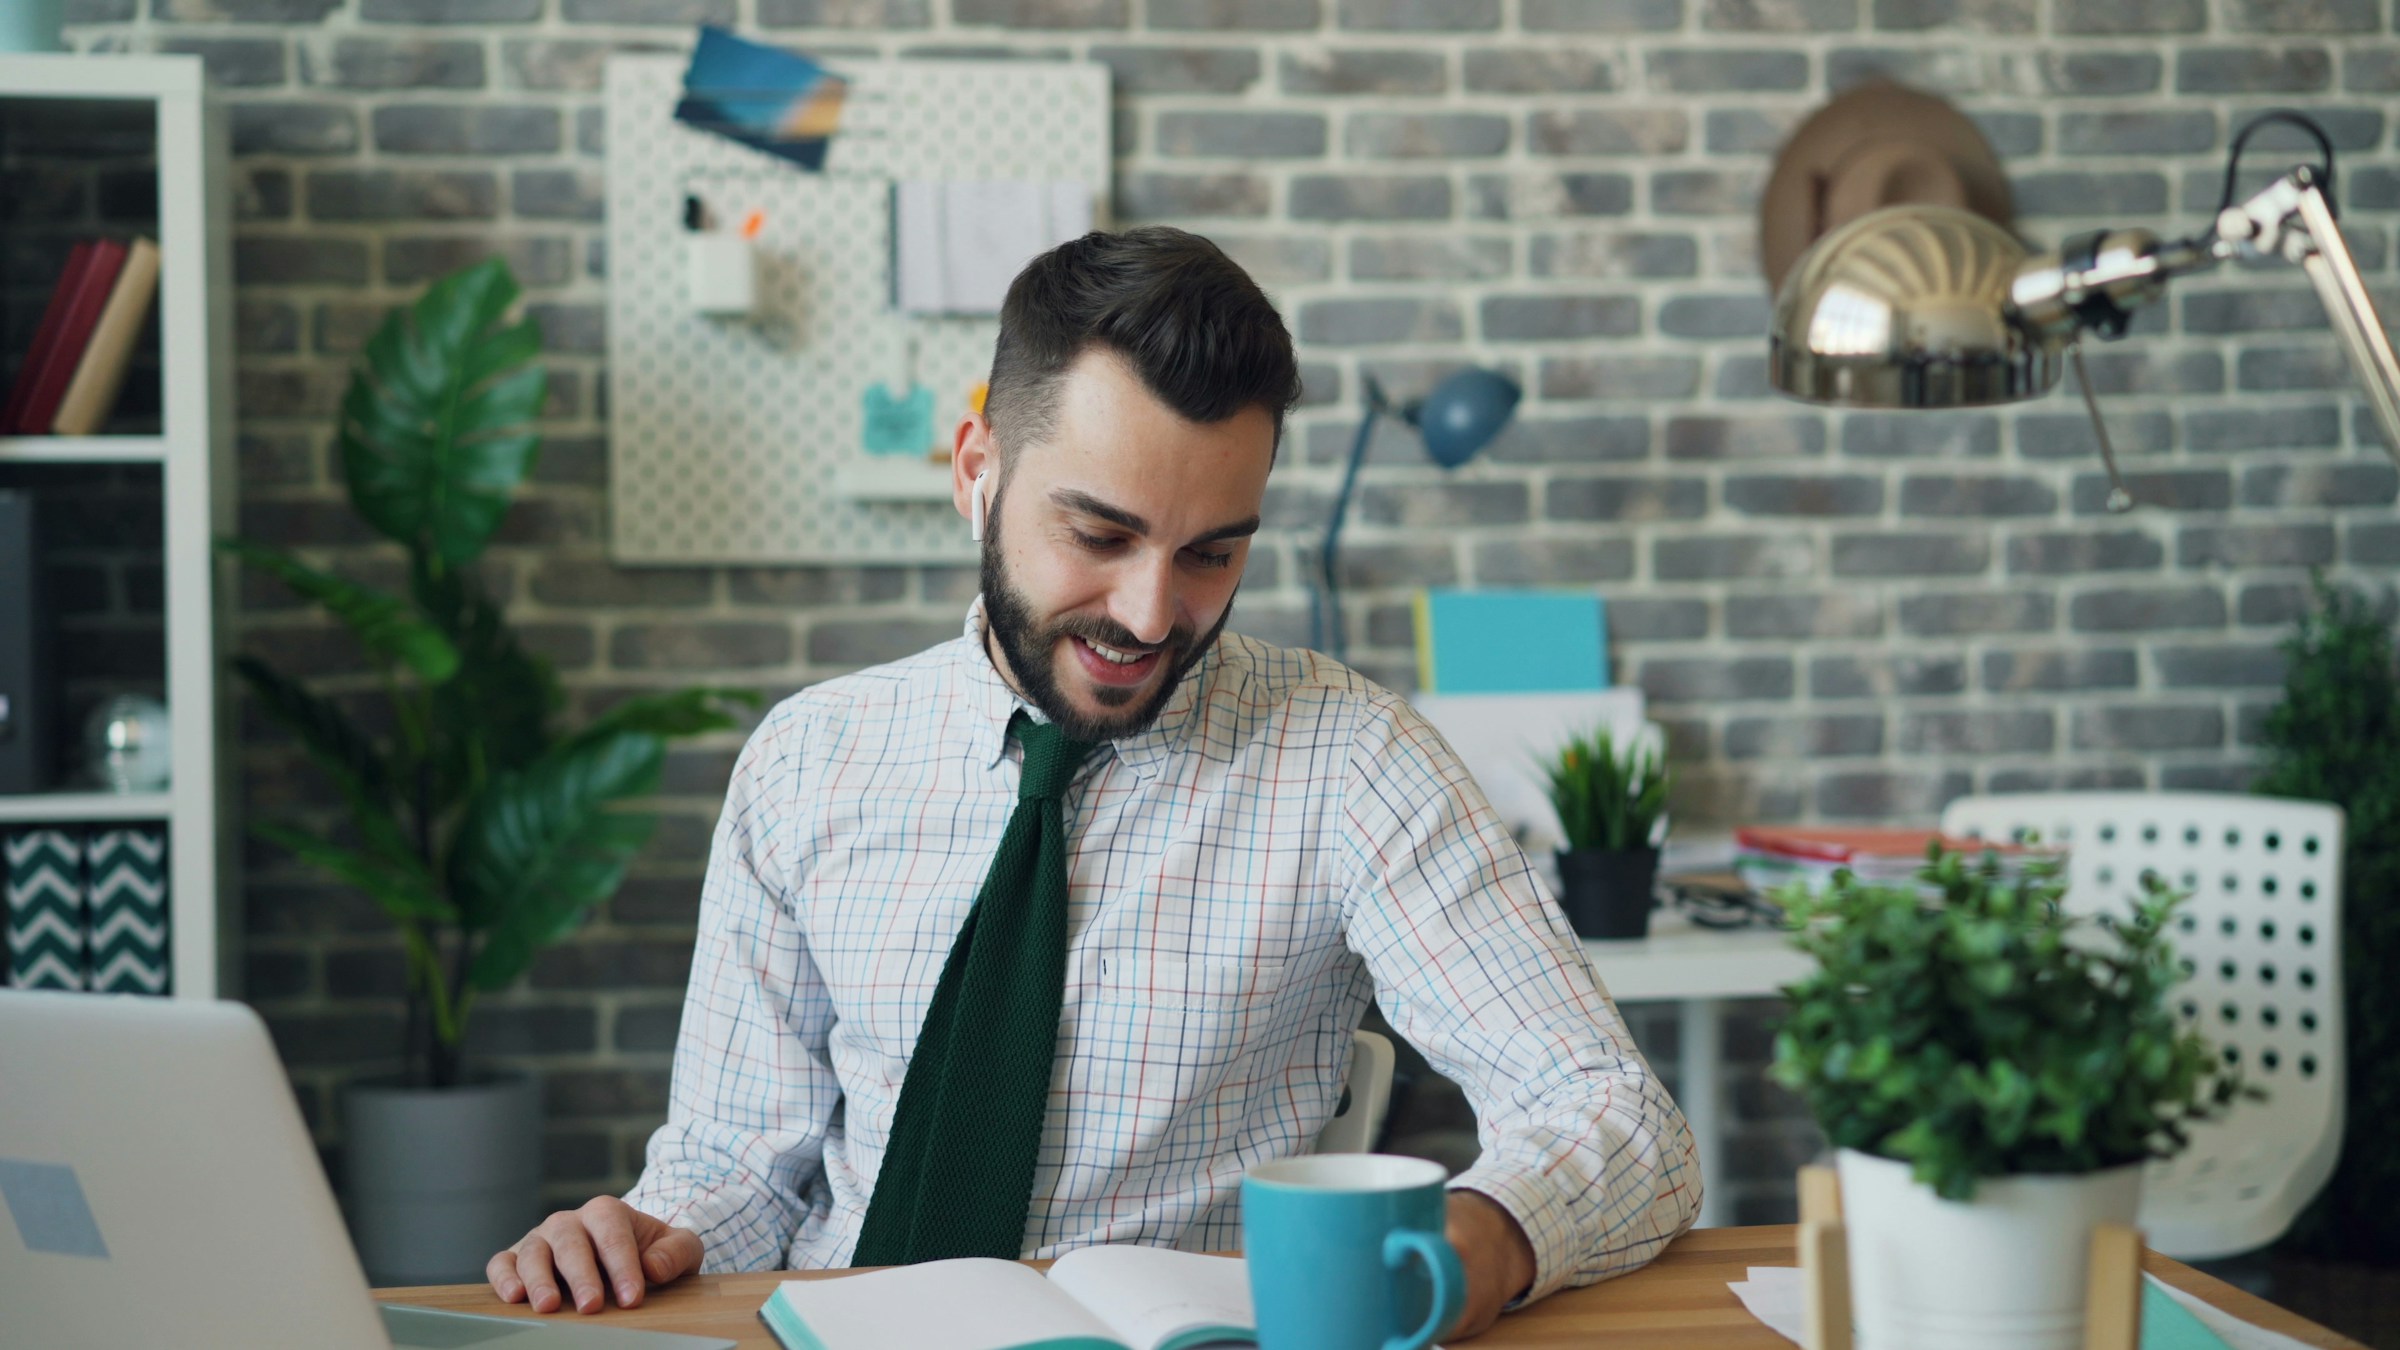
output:
M1258 1345L1238 1256L1082 1247L1049 1273L970 1256L785 1280L758 1309L785 1350L1200 1350Z

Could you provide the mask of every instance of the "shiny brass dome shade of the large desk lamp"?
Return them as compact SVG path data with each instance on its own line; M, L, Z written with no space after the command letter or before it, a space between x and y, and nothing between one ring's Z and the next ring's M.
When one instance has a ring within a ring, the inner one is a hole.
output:
M1776 293L1776 389L1848 408L2011 404L2059 382L2059 351L2009 322L2026 245L1956 207L1870 211L1819 238Z

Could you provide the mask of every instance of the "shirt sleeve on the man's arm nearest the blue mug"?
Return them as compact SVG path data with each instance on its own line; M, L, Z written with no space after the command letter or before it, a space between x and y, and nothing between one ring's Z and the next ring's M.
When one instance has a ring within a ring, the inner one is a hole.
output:
M1699 1215L1692 1131L1450 745L1385 694L1344 781L1344 925L1483 1146L1450 1179L1534 1244L1524 1300L1622 1276ZM1517 1307L1514 1302L1510 1307Z

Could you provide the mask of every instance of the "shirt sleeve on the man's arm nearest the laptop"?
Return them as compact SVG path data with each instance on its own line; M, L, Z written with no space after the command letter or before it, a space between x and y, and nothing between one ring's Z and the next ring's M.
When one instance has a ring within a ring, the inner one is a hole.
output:
M794 913L809 718L780 704L734 761L701 882L667 1124L626 1203L701 1235L701 1268L782 1266L840 1086L833 1002Z

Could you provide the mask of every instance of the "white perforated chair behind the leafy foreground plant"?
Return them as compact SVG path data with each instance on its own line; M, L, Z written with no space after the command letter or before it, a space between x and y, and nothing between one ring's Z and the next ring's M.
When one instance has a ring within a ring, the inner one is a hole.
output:
M2280 1237L2342 1153L2342 812L2230 793L1961 798L1946 834L2062 843L2066 908L2122 913L2141 874L2189 891L2184 1021L2266 1088L2143 1172L2141 1227L2186 1261Z

